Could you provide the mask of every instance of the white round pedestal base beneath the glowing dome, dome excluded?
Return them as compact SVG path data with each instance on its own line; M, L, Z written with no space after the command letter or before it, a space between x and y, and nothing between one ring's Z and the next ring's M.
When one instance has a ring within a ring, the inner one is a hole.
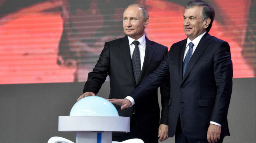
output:
M76 143L112 143L112 132L130 132L130 118L60 116L59 131L76 131Z

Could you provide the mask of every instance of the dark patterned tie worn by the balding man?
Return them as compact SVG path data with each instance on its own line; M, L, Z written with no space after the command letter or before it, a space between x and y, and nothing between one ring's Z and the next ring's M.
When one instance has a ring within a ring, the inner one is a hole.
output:
M140 49L138 47L139 45L139 41L134 40L132 42L135 45L135 49L132 53L132 68L133 68L133 74L134 74L134 78L135 81L137 83L139 76L140 76L140 72L141 72L141 68L140 68Z

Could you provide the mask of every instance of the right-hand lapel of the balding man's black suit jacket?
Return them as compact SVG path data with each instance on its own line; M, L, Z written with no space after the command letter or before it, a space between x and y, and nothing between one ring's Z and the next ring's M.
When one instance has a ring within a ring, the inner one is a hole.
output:
M145 57L144 57L144 62L142 66L142 71L140 72L140 77L138 79L137 84L140 83L140 81L143 79L144 75L146 74L146 71L148 69L148 66L150 65L150 62L155 50L155 47L153 46L153 42L150 41L147 37L145 38L146 38Z

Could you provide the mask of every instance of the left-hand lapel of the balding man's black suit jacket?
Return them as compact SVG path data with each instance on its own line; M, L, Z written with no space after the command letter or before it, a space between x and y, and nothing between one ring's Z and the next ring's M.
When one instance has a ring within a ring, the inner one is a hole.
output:
M124 38L122 38L122 41L119 43L119 48L124 57L124 61L125 61L128 71L129 71L129 74L135 83L134 74L133 74L133 70L132 70L132 60L131 60L131 55L130 55L129 40L128 40L127 35Z

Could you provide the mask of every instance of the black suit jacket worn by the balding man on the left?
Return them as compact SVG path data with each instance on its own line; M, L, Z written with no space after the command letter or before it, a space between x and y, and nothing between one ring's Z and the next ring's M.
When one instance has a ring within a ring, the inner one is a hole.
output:
M164 59L164 56L167 55L167 52L167 47L146 38L144 63L138 82L135 84L128 37L125 36L114 41L106 42L96 66L88 74L88 80L84 85L84 92L94 92L97 94L107 75L109 75L109 98L124 99L148 74L156 70ZM167 79L169 80L169 78ZM163 101L161 124L168 124L170 81L166 84L160 88ZM157 138L158 136L160 108L157 92L157 88L155 88L151 93L146 95L143 101L138 101L140 104L135 105L137 129L144 137ZM120 106L116 104L114 106L116 106L119 116L132 117L134 106L125 110L121 110Z

